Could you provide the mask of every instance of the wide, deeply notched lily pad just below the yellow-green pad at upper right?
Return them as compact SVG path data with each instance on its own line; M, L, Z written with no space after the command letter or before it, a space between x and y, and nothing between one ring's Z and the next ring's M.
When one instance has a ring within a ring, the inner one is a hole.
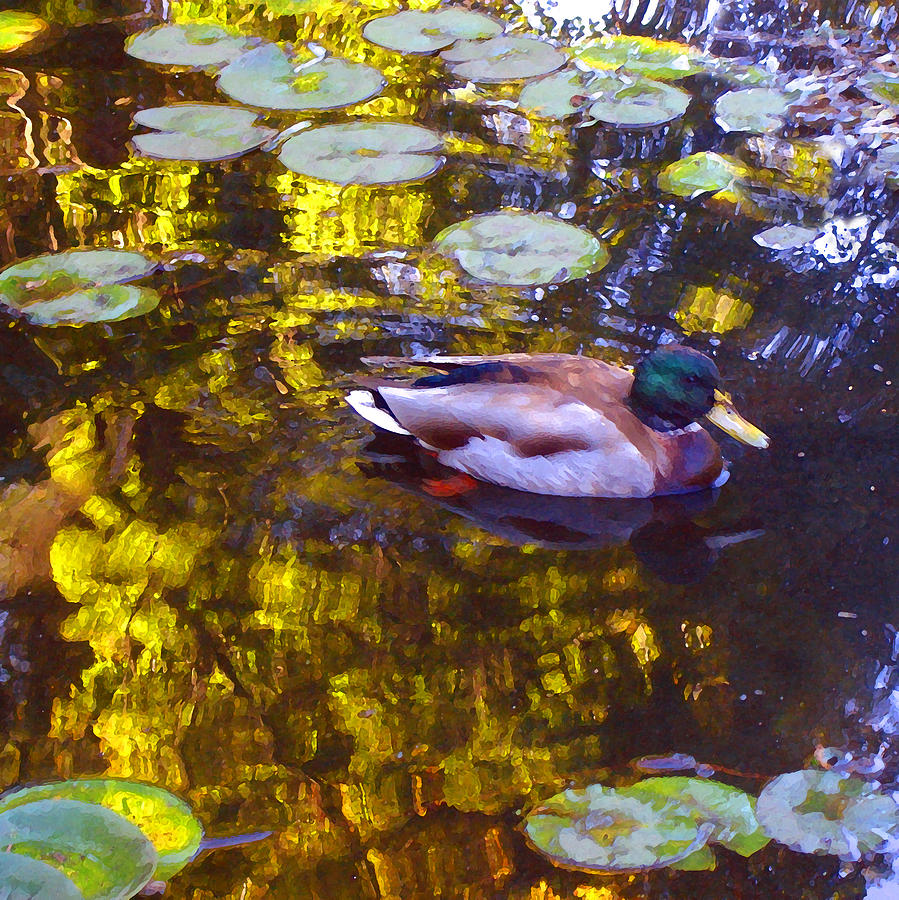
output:
M607 125L648 128L680 118L690 96L649 78L567 69L526 85L518 103L543 118L582 113Z

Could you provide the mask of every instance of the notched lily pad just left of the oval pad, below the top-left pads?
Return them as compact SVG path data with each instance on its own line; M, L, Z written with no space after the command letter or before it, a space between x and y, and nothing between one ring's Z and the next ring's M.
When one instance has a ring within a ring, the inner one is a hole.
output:
M134 122L157 133L136 134L132 142L138 153L154 159L234 159L277 134L257 125L257 119L252 110L220 103L155 106L136 113Z

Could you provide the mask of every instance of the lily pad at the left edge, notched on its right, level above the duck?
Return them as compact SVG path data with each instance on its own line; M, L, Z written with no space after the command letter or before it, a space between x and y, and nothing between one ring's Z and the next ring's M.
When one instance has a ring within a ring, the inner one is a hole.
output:
M155 309L159 294L126 284L156 263L133 250L66 250L0 272L0 303L35 325L118 322Z

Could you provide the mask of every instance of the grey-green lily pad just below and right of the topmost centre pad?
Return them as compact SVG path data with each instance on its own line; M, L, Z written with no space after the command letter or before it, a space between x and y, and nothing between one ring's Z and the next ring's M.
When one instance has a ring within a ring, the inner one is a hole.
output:
M494 84L547 75L567 57L552 44L524 35L500 35L488 41L459 41L440 58L457 78Z

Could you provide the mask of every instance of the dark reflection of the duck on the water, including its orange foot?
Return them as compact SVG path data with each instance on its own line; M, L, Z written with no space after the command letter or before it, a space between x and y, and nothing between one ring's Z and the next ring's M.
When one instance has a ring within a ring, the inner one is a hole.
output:
M718 490L648 499L552 497L476 481L397 435L366 444L359 468L437 503L518 546L597 550L630 543L657 577L686 584L705 575L721 551L759 537L761 529L714 533L694 517L710 510Z

